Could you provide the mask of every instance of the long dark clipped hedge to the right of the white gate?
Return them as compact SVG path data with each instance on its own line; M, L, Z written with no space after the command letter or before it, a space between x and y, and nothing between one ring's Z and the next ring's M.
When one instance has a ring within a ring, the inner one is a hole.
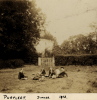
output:
M97 65L97 55L55 56L55 65Z

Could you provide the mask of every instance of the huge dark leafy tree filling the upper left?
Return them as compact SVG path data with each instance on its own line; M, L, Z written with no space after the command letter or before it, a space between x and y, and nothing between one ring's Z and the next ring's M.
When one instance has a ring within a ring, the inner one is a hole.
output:
M34 44L40 38L45 16L36 7L35 0L0 1L0 53L35 52ZM20 56L21 53L19 53ZM14 57L15 57L14 56ZM22 56L22 55L21 55Z

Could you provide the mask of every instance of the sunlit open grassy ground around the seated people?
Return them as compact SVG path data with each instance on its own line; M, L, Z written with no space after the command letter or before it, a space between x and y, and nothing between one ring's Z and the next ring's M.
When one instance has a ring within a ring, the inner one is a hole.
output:
M61 67L61 66L57 66ZM64 66L68 77L32 80L41 67L25 65L28 80L19 80L21 68L0 70L0 93L97 93L97 66ZM48 73L48 67L45 67Z

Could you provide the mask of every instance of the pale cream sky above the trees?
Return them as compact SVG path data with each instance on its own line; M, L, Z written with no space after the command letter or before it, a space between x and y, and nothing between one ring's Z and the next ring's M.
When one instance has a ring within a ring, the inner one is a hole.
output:
M36 0L36 4L46 14L46 30L59 45L72 35L94 31L89 24L97 22L97 0Z

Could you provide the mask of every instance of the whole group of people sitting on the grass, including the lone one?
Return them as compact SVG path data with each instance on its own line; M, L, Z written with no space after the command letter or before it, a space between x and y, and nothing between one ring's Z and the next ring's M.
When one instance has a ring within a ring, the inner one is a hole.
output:
M35 77L33 77L33 80L39 80L40 78L49 77L49 78L63 78L64 76L67 76L67 73L64 70L64 67L61 67L60 69L56 68L55 70L50 67L49 68L49 75L46 74L45 69L42 67L41 71L38 72ZM19 72L18 79L27 79L27 76L24 75L23 69Z

